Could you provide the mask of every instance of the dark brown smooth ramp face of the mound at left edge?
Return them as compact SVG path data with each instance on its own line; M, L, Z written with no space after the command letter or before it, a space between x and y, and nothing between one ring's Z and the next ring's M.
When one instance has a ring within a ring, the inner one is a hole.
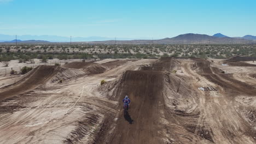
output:
M15 94L30 91L31 89L44 84L51 77L56 75L59 70L60 67L50 65L40 65L39 67L34 68L14 85L2 89L2 92L0 92L0 101Z

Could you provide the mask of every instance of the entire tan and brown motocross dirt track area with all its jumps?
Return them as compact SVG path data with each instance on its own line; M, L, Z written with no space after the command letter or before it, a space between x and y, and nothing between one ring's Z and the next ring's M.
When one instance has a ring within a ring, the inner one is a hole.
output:
M2 89L0 143L256 143L254 74L200 58L41 66Z

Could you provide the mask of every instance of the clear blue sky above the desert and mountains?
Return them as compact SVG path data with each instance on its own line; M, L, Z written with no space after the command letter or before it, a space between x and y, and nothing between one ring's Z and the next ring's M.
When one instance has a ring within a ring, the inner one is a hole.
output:
M256 1L0 0L0 34L166 38L256 35Z

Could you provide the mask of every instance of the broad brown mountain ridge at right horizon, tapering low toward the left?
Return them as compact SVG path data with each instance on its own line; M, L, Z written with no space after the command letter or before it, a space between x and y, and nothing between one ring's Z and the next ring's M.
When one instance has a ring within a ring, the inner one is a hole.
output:
M114 40L91 41L88 43L115 44ZM213 37L206 34L187 33L159 40L118 40L117 44L256 44L256 41L230 37Z

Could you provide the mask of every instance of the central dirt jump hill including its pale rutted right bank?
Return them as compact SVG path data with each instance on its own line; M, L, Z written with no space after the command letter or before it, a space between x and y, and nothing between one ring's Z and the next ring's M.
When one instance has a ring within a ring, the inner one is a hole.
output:
M200 137L212 143L211 131L197 125L196 94L184 77L170 74L178 63L174 58L161 58L150 69L125 71L113 85L115 97L110 97L120 101L117 123L109 120L113 116L106 119L95 143L189 143ZM121 103L124 95L132 101L126 117ZM186 138L181 136L184 133ZM202 133L207 135L200 136Z

